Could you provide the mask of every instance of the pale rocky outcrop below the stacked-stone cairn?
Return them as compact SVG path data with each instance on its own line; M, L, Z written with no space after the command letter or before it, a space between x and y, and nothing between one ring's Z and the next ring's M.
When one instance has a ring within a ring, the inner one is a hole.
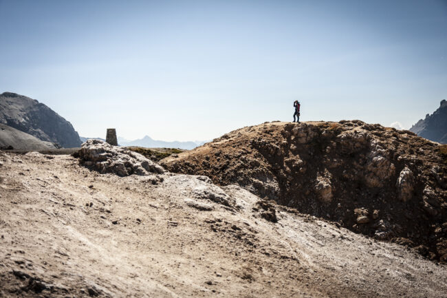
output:
M120 176L164 173L164 169L139 153L112 146L102 140L87 140L79 151L81 164L100 173Z

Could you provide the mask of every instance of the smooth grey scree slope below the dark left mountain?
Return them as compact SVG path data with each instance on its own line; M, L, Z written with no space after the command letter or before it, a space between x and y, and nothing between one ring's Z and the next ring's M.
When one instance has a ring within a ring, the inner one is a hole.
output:
M48 150L57 149L52 142L39 140L35 136L26 134L19 129L0 124L0 149L14 150Z

